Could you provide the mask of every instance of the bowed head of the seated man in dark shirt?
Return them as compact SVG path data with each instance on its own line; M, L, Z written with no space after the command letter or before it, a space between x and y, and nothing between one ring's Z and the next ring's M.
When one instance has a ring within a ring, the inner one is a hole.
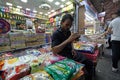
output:
M66 14L62 17L61 27L65 30L69 30L72 26L73 17L70 14Z

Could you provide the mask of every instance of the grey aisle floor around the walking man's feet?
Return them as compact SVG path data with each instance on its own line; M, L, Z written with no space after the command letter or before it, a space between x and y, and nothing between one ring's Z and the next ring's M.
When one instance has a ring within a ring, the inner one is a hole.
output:
M120 62L119 72L113 73L111 71L111 50L105 50L105 54L100 58L96 68L96 79L95 80L120 80Z

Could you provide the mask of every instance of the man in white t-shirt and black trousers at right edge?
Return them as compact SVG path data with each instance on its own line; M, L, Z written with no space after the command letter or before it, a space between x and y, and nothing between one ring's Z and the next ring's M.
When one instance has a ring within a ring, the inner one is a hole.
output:
M113 72L118 71L118 61L120 60L120 10L117 11L116 15L117 17L111 21L108 30L101 35L104 36L112 32L111 40L112 40L112 71Z

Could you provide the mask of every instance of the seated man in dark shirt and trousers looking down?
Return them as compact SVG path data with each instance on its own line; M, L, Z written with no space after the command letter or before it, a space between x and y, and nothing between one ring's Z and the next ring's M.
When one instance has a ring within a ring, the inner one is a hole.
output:
M87 74L85 80L92 80L93 63L88 60L81 53L76 53L72 49L72 42L80 37L78 33L71 33L70 28L72 26L73 17L70 14L66 14L62 17L60 27L52 35L52 51L55 54L73 59L77 62L85 64Z

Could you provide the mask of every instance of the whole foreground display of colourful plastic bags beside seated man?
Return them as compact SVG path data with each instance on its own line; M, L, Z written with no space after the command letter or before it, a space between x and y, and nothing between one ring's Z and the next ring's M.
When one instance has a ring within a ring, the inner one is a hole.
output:
M4 59L0 60L0 77L3 80L69 80L82 71L84 65L53 54L50 48L46 48L41 48L45 49L43 53L37 49L27 49L20 55L4 55Z

